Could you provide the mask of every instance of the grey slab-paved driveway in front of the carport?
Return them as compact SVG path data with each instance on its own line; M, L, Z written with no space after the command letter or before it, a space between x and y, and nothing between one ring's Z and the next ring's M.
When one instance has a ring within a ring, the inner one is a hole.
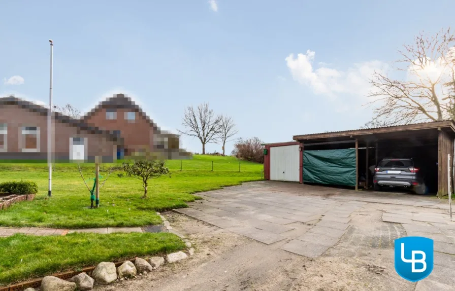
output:
M273 181L198 196L203 200L175 211L309 258L340 250L348 256L375 249L393 253L396 238L432 238L435 268L416 289L455 285L455 223L449 220L447 200Z

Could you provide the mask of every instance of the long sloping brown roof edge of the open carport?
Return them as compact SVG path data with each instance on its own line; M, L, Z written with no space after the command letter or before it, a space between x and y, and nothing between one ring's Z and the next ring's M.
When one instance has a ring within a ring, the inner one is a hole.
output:
M353 130L344 130L344 131L333 131L333 132L322 132L322 133L313 133L313 134L301 134L294 135L294 140L304 140L304 139L320 139L320 138L332 138L332 137L354 137L367 134L377 134L377 133L392 133L408 130L419 130L419 129L438 129L438 128L448 128L450 131L455 132L455 122L453 120L443 120L443 121L433 121L433 122L422 122L414 123L407 125L395 125L395 126L385 126L378 128L367 128L367 129L353 129Z

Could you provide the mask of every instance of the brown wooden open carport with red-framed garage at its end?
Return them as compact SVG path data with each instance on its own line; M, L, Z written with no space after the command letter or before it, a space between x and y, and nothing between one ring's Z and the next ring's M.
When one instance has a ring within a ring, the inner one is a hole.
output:
M294 142L265 145L265 178L275 179L270 173L285 167L276 169L270 163L283 160L274 155L273 148L293 145L293 151L298 151L291 155L296 159L294 164L299 165L300 183L368 189L372 184L369 167L387 157L414 158L425 173L429 191L442 197L453 187L449 183L454 180L454 138L452 120L295 135Z

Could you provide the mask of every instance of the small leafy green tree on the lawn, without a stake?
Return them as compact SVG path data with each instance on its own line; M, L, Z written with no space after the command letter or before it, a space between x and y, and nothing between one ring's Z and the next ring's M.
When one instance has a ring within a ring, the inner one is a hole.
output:
M165 161L160 160L136 160L134 164L123 163L122 170L126 173L127 177L142 180L142 187L144 188L144 196L142 198L147 198L149 179L159 178L162 175L171 176L171 172L166 167ZM119 174L119 176L122 175Z

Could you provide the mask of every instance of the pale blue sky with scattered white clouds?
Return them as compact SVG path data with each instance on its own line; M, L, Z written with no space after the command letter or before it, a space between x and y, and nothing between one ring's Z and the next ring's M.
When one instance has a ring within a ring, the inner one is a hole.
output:
M372 72L389 70L417 33L453 24L454 10L422 0L2 1L0 96L48 103L52 39L57 105L87 112L125 93L177 133L184 108L208 102L234 119L235 137L264 142L356 129L372 117Z

